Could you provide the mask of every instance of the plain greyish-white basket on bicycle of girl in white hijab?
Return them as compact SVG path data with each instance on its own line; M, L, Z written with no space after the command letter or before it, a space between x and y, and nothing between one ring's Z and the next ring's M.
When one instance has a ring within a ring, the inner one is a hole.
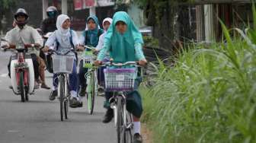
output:
M72 73L74 64L73 56L53 55L53 73Z

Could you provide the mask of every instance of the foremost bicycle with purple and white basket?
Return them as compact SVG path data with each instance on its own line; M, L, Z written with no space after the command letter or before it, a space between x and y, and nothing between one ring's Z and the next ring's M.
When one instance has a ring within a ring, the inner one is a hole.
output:
M136 62L113 63L106 62L104 69L105 91L113 92L110 98L110 108L114 110L114 125L117 127L117 142L130 143L133 141L133 116L126 110L126 94L134 91L134 84L139 67ZM132 68L122 68L132 65ZM110 68L114 66L116 68Z

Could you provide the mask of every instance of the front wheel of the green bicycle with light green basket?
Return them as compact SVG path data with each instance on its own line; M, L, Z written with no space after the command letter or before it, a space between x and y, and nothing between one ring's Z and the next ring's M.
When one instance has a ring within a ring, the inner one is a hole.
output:
M92 114L94 111L94 99L96 94L96 84L95 84L95 72L91 72L91 78L90 78L90 84L89 86L89 92L87 94L87 105L88 105L88 113Z

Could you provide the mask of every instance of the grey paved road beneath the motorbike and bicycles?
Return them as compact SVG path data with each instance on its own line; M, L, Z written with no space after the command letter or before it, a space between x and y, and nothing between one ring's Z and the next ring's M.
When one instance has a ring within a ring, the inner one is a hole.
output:
M114 143L114 123L103 124L103 97L96 98L94 115L85 106L69 110L69 119L59 119L58 100L48 100L50 91L40 89L30 95L30 101L8 89L7 62L10 53L0 52L0 143ZM50 74L47 84L51 85ZM85 100L83 100L85 101ZM84 102L85 105L85 102Z

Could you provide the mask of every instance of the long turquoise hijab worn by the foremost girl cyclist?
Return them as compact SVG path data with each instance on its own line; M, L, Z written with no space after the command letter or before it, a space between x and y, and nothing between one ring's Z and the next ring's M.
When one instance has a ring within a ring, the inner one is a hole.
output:
M120 34L115 25L123 21L127 25L126 32ZM130 16L124 11L114 14L113 23L104 37L104 47L110 49L110 56L114 62L136 61L135 46L142 45L142 34L139 32Z

